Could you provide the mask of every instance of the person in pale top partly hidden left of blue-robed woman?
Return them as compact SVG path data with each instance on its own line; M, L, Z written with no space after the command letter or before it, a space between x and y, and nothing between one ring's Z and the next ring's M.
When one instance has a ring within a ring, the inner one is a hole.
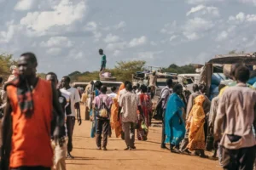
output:
M160 100L158 101L158 104L156 108L160 108L162 112L162 139L161 139L161 148L162 149L167 149L166 148L166 129L165 129L165 114L166 114L166 105L167 105L167 100L172 94L172 78L167 79L166 81L166 88L163 88L160 94Z

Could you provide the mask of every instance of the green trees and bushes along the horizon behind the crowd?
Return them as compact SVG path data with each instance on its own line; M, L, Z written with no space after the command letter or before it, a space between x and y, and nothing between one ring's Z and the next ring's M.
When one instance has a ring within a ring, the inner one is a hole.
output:
M10 54L0 54L0 77L7 80L11 72L9 68L11 65L16 65L17 62ZM113 77L117 78L117 81L125 82L132 80L132 74L137 71L145 71L146 61L144 60L131 60L131 61L119 61L116 63L113 69L107 69ZM193 65L169 65L169 67L163 68L162 71L173 72L177 74L182 73L195 73L195 67ZM71 77L72 82L90 82L91 80L99 79L99 71L73 71L68 75ZM45 73L38 73L38 77L45 78Z

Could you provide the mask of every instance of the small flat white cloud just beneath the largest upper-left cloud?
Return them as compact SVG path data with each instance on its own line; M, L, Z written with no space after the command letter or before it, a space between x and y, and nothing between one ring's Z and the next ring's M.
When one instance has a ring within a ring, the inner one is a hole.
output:
M70 48L70 47L73 47L73 42L68 40L67 37L50 37L48 41L41 42L40 46L45 48L52 48L52 47Z

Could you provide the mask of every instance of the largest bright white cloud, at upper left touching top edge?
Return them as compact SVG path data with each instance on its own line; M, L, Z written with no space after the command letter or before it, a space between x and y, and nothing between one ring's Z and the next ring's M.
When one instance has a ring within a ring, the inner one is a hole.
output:
M20 24L38 32L47 31L53 26L68 26L74 21L83 19L86 6L84 1L73 4L70 0L61 0L53 9L53 11L30 12L20 20Z

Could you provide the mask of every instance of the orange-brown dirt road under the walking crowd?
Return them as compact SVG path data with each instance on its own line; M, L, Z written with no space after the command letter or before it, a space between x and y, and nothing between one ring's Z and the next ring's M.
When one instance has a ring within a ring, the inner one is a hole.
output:
M82 113L84 107L82 106ZM82 114L84 116L84 114ZM73 134L74 160L67 160L68 170L82 169L173 169L173 170L219 170L218 161L185 156L160 149L160 127L150 127L148 141L136 140L137 150L125 151L125 142L114 137L108 140L108 151L96 150L95 139L90 139L91 122L76 124Z

